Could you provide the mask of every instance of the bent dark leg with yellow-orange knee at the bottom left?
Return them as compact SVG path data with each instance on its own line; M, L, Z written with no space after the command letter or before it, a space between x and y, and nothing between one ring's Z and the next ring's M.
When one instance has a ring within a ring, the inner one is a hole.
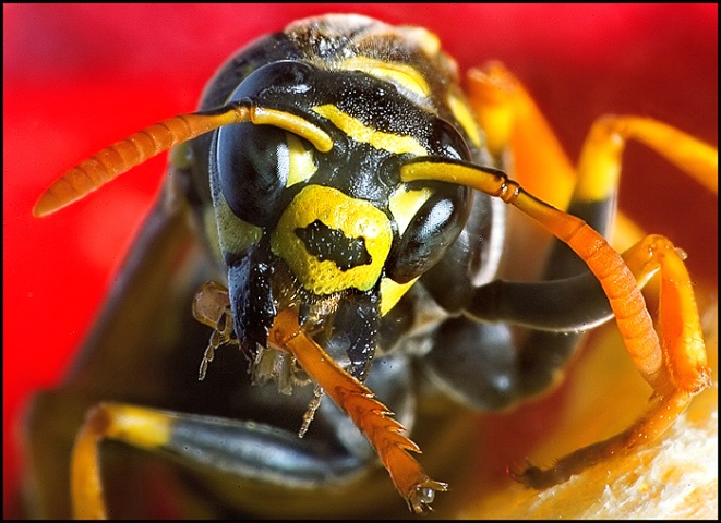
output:
M401 418L412 423L408 361L388 356L377 363L369 385L397 409ZM262 393L263 388L255 389ZM275 394L275 390L268 392ZM300 427L300 411L297 422ZM292 504L303 502L303 492L322 488L352 490L376 459L360 430L329 401L321 403L316 421L302 439L297 430L255 421L104 402L88 411L72 451L71 498L75 518L108 515L101 474L103 440L120 441L190 470L206 471L213 475L214 485L227 478L233 500L241 510L248 507L251 511L257 504L250 498L263 498L267 492L283 491ZM238 491L239 487L245 487L247 492ZM358 498L364 496L356 492ZM243 497L250 498L241 500Z

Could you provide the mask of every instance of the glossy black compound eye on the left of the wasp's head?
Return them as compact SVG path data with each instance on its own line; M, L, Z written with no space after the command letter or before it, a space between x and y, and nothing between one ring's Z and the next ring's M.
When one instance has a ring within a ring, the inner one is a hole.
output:
M260 227L277 221L288 181L286 132L239 123L218 131L216 161L220 191L241 220Z

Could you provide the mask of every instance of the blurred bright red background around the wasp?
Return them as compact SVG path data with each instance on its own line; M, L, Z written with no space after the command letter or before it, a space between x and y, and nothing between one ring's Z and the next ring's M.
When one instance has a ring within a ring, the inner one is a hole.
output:
M65 169L192 111L237 48L302 16L359 12L435 32L462 70L500 59L572 158L594 118L637 113L718 143L718 5L3 4L3 515L17 488L17 417L62 376L163 179L165 157L44 220ZM718 200L632 145L620 202L718 281Z

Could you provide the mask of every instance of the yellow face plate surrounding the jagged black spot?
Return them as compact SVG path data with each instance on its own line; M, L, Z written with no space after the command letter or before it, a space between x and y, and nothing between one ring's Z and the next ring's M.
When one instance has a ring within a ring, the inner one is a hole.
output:
M343 231L347 238L363 239L371 262L340 270L334 262L310 254L296 229L315 220ZM308 291L324 295L350 288L372 289L381 277L392 241L390 221L370 202L351 198L336 188L309 185L284 211L271 238L271 248L287 262Z

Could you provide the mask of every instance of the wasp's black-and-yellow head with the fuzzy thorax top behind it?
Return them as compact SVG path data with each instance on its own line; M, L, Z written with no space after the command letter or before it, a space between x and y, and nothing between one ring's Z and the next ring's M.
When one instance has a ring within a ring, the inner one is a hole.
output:
M244 62L242 78L220 71L206 102L255 118L214 132L208 171L243 346L265 346L277 312L295 307L326 345L352 332L340 352L363 377L380 319L443 256L472 202L467 187L405 183L400 167L472 160L480 138L432 35L343 20L241 51L227 71ZM235 87L220 99L218 85Z

